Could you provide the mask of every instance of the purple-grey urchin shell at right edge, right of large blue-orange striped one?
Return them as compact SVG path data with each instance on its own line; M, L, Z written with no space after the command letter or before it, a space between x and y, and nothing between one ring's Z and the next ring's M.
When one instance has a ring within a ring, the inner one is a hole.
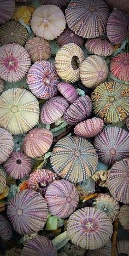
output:
M104 128L93 144L99 161L108 165L129 157L128 145L129 134L119 127Z

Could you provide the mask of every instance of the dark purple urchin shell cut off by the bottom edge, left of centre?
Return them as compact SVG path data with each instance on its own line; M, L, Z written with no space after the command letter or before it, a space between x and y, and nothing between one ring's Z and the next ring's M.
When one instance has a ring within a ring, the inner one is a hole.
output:
M21 256L56 256L54 244L45 236L33 237L27 241L21 251Z

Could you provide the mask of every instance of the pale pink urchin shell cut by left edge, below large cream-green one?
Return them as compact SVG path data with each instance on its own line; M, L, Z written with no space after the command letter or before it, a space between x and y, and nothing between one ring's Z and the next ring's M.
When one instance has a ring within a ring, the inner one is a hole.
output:
M0 111L1 113L1 111ZM0 164L5 162L13 151L13 136L3 128L0 128Z

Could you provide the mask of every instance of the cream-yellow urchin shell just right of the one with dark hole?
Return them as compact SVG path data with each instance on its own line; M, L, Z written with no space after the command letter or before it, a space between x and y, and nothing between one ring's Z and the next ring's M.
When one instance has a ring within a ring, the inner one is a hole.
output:
M107 77L108 65L100 56L89 56L80 65L80 79L85 87L98 86Z

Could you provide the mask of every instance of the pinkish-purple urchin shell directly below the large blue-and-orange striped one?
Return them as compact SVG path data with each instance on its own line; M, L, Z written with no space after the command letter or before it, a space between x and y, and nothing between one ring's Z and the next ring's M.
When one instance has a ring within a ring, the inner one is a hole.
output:
M46 190L45 200L52 215L68 218L78 206L79 195L68 180L55 180Z

